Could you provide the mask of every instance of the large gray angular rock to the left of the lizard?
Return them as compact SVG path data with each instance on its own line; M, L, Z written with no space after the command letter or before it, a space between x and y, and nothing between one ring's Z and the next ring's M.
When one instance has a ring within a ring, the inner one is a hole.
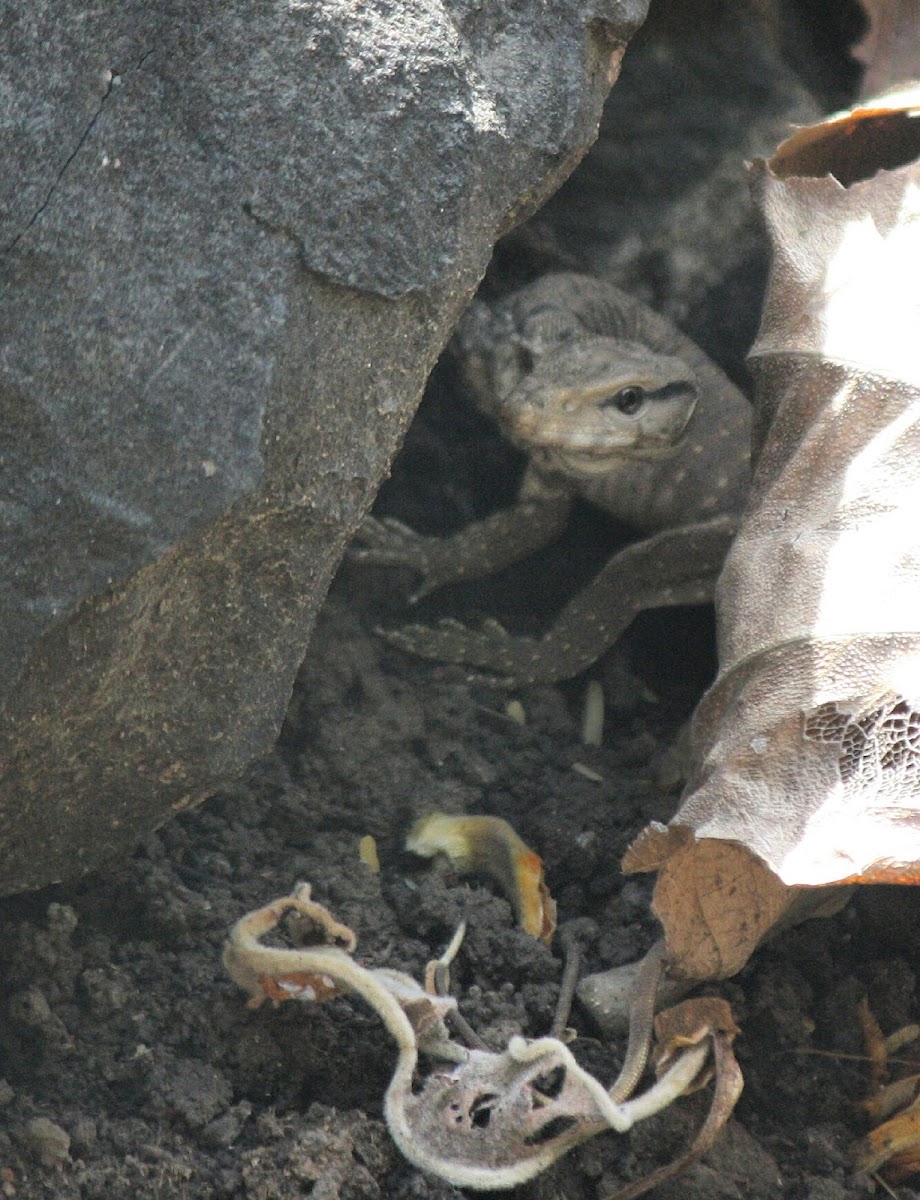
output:
M276 736L494 239L647 2L0 13L0 892Z

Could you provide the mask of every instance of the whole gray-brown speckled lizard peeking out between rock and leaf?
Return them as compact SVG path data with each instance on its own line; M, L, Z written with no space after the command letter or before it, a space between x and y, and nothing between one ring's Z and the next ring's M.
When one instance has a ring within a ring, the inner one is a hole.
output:
M368 518L353 557L415 569L419 599L548 545L576 497L644 536L539 640L444 620L386 630L387 641L549 683L583 671L644 608L710 601L750 481L751 412L718 367L638 300L573 274L474 304L457 346L480 408L530 457L518 499L450 538Z

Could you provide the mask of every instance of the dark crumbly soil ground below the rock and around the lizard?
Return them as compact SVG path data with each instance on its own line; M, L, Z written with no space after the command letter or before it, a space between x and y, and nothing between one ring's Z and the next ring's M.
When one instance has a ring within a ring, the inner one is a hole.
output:
M753 264L745 287L762 280L763 263ZM735 348L756 311L739 326L735 284L718 301L722 324L708 318L705 329L708 348L742 378ZM446 361L380 511L445 533L507 503L521 466ZM621 538L579 510L555 547L433 595L413 619L491 614L534 631ZM360 961L416 978L465 918L453 970L462 1013L494 1048L515 1032L545 1033L557 950L516 929L491 882L403 851L425 812L509 820L543 857L560 922L590 922L585 971L630 962L655 940L650 881L624 878L618 864L649 820L674 810L662 755L711 678L711 613L636 622L591 672L607 719L603 745L589 748L579 734L585 678L509 692L375 637L374 625L404 619L408 582L343 570L278 746L243 779L109 872L0 902L0 1195L461 1196L409 1166L387 1136L381 1099L395 1054L372 1013L349 1000L252 1012L221 967L230 925L306 880L356 931ZM523 725L506 714L512 697ZM359 858L367 834L379 874ZM745 1092L716 1148L659 1200L920 1195L852 1168L867 1088L858 1004L868 1000L885 1033L916 1020L919 954L920 894L864 889L711 989L742 1028ZM605 1043L577 1007L572 1025L576 1056L612 1080L623 1044ZM697 1094L630 1135L599 1136L513 1194L599 1200L679 1153L705 1106Z

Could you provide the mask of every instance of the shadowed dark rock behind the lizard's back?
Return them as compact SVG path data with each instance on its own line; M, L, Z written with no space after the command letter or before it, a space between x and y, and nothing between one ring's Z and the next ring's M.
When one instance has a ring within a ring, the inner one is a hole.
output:
M536 259L543 271L600 275L732 368L757 330L768 262L745 162L840 97L816 100L802 83L814 74L813 30L793 12L769 20L769 10L721 0L653 6L597 142L510 235L497 265L512 257L518 270ZM796 56L808 70L790 62Z

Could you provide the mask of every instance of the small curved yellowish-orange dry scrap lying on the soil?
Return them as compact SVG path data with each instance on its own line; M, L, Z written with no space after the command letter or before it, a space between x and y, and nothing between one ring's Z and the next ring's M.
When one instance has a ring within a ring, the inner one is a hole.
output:
M462 875L488 875L511 900L521 928L547 946L552 942L555 901L543 882L542 859L507 821L429 812L409 830L405 848L422 858L444 854Z

